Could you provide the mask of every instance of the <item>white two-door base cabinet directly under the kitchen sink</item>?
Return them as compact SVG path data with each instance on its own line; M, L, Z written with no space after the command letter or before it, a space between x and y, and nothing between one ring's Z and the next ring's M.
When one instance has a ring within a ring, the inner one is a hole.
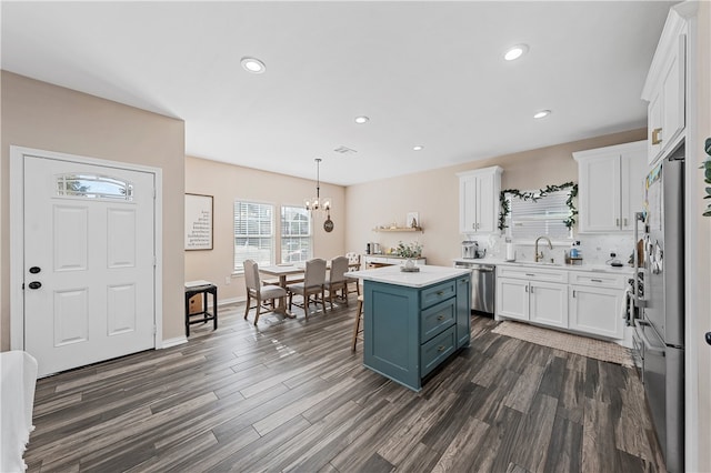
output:
M499 273L495 304L498 318L568 328L565 271L499 266Z

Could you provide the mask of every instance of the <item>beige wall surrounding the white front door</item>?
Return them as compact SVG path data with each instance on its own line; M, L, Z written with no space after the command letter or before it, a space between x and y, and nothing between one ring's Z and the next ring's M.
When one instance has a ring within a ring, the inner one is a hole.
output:
M162 169L163 339L183 332L184 123L2 71L0 350L10 348L10 145Z

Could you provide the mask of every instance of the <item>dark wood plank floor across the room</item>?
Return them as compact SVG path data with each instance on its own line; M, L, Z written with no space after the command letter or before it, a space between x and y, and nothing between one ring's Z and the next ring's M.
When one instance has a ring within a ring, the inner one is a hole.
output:
M354 309L256 329L227 306L187 344L40 380L28 471L664 471L632 369L473 316L414 393L351 353Z

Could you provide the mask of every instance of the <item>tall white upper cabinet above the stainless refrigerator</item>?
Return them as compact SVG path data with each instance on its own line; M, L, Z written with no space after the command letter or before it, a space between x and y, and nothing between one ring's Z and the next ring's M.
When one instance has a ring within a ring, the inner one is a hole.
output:
M671 9L642 90L648 105L648 161L672 151L685 125L687 23Z

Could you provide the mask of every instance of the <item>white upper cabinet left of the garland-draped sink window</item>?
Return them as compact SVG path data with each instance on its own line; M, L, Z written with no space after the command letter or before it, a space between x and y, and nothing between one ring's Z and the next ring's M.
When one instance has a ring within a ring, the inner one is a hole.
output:
M459 172L460 233L494 233L498 231L499 194L502 168Z

